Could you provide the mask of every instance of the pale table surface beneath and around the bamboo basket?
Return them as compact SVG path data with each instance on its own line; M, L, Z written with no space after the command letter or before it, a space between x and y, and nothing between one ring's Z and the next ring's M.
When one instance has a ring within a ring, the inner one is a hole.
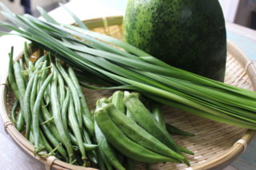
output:
M74 11L82 20L89 18L102 18L106 16L121 15L124 13L126 1L115 0L73 0L66 6ZM61 8L52 10L50 15L58 22L72 23L74 20ZM227 38L238 45L247 57L256 62L256 31L238 26L232 23L226 23ZM2 75L7 72L8 57L10 46L14 45L14 56L22 51L23 38L15 36L3 36L0 38L0 81ZM256 138L251 141L246 152L239 156L231 164L234 168L240 170L256 169ZM41 170L44 165L27 157L20 148L18 148L10 136L3 129L0 121L0 170ZM231 168L230 168L231 169Z

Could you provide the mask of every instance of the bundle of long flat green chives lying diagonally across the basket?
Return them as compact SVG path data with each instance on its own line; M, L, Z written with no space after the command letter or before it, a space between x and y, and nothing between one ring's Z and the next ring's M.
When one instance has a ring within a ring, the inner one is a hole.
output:
M106 82L111 82L112 85L137 90L152 99L160 97L160 101L164 103L214 121L256 129L252 117L256 104L254 92L174 68L132 45L90 30L60 26L49 20L47 23L42 22L30 15L15 17L9 10L4 9L3 14L6 18L17 26L5 22L1 22L1 26L15 30L18 35L46 46L52 52L58 53L57 57L69 62L70 65L76 65L79 69L93 73L102 81L107 80ZM104 42L117 45L126 51ZM170 82L172 85L168 85ZM206 92L209 93L207 97ZM222 93L222 97L219 93ZM78 112L79 115L82 114Z

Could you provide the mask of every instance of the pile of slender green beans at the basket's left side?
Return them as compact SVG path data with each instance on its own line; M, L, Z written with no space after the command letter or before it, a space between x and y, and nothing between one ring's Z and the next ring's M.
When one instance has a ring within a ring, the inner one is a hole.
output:
M32 60L26 43L18 61L13 53L12 48L8 81L16 100L10 119L34 144L34 154L98 167L94 120L74 70L46 51Z

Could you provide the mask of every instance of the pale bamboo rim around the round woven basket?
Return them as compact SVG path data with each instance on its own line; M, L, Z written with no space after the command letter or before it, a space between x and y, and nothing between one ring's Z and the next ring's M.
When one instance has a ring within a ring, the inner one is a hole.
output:
M95 30L104 34L118 34L118 36L114 36L116 38L122 38L122 16L113 16L107 18L94 18L90 20L84 21L86 26L88 26L91 30ZM231 56L230 63L233 61L237 61L239 65L239 75L237 77L242 79L242 81L230 81L236 85L236 83L243 83L250 81L250 89L256 90L256 67L252 61L232 42L227 42L228 53ZM22 53L17 57L21 57ZM236 65L234 68L229 68L230 70L236 69ZM28 155L33 156L35 159L41 161L43 164L46 164L46 169L56 168L56 169L77 169L77 170L90 170L95 168L84 168L80 166L75 166L72 164L67 164L62 160L56 159L54 156L42 157L42 156L34 156L34 146L30 144L28 140L14 127L9 118L9 113L7 109L7 99L8 99L8 82L7 82L7 74L2 77L2 83L0 87L0 101L1 101L1 112L0 115L2 117L3 125L12 139L18 144L20 148L23 149ZM226 77L232 77L233 75L226 75ZM246 77L246 78L244 78ZM239 85L239 84L238 84ZM191 116L195 117L195 116ZM200 123L200 121L199 121ZM226 126L226 125L223 125ZM206 129L207 130L207 129ZM198 162L198 164L192 164L190 168L180 168L176 166L158 166L161 169L211 169L211 168L224 168L227 164L230 164L237 156L239 156L245 149L246 145L250 143L250 140L253 138L255 131L244 129L241 131L242 136L238 138L236 141L232 141L230 144L230 148L223 151L220 155L214 157L214 159L201 161L203 163ZM226 143L224 141L223 143ZM185 146L186 147L186 146ZM214 149L214 148L213 148ZM210 152L210 151L204 151ZM210 152L211 153L211 152ZM209 154L210 154L209 153ZM140 168L139 168L140 169Z

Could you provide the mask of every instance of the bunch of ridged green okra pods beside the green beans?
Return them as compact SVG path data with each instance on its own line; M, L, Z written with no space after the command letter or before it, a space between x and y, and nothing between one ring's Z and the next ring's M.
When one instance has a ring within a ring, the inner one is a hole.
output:
M144 162L147 167L159 162L184 162L190 166L182 152L194 153L175 144L168 132L193 134L166 124L161 105L155 101L145 105L138 93L127 91L117 91L97 101L94 112L96 140L102 141L99 150L106 157L102 160L102 168L134 169L137 162Z

